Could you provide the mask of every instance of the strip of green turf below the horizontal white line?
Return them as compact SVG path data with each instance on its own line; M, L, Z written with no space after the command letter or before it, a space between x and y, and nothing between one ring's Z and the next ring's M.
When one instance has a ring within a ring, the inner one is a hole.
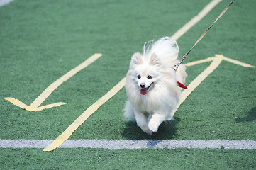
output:
M255 169L255 151L238 149L0 149L1 169Z

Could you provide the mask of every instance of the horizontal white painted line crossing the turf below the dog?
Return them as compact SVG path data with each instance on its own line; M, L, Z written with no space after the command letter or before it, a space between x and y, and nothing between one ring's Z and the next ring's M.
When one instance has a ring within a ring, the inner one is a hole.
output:
M53 140L0 140L1 148L44 148ZM62 148L101 149L256 149L255 140L66 140Z

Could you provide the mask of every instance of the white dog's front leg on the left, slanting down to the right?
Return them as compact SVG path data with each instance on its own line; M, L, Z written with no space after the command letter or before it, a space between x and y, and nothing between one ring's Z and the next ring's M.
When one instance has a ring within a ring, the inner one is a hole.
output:
M148 128L148 118L144 113L135 111L134 115L136 118L137 125L142 129L144 132L148 133L148 135L152 135L152 130Z

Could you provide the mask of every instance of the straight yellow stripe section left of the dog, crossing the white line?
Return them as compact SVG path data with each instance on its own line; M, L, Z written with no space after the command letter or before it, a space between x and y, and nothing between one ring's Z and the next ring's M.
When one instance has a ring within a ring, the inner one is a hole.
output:
M62 132L62 134L59 137L57 137L56 140L52 142L52 144L50 144L48 147L45 147L43 151L49 152L57 147L60 147L60 145L62 145L62 143L65 142L65 140L67 140L72 135L74 130L77 130L79 125L82 125L82 123L84 123L84 121L87 120L87 118L89 118L89 116L92 115L92 113L94 113L101 105L103 105L106 101L112 98L118 91L120 91L125 83L126 77L119 81L119 83L116 84L116 86L113 86L113 88L110 91L108 91L108 93L99 98L99 100L96 101L93 105L87 108L87 110L84 111L82 115L80 115L76 120L74 120L74 122L71 125L69 125L69 127L64 132Z

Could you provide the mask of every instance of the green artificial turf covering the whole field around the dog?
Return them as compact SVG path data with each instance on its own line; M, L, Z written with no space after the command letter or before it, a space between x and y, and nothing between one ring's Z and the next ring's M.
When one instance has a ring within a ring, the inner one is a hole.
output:
M131 55L133 52L141 52L144 42L165 35L171 36L208 2L13 1L7 6L1 6L0 139L55 139L85 109L125 77ZM189 50L229 2L222 1L177 40L180 55ZM255 8L256 4L252 0L235 1L223 18L196 45L185 62L223 54L256 65ZM99 52L103 54L99 60L58 87L42 104L66 102L67 105L28 112L4 100L5 97L14 97L29 105L53 81ZM208 64L187 67L186 85ZM126 92L122 89L91 115L70 139L256 140L255 74L255 68L221 62L179 107L174 115L175 120L163 123L152 136L145 135L135 123L123 120ZM118 169L116 166L122 165L128 168L131 164L139 168L155 169L158 166L166 169L255 167L255 149L108 151L58 148L53 153L42 153L41 150L1 149L0 161L4 168L13 169L19 159L19 169L26 166L29 169L40 169L40 166L42 169L65 166L69 169L82 169L84 164L91 169L102 166ZM74 158L69 157L72 154ZM110 157L111 154L114 156ZM211 157L214 154L216 159ZM6 155L11 155L11 159L4 159ZM156 155L156 160L147 161L149 155ZM137 158L140 158L140 162L136 162ZM203 159L206 161L202 162Z

